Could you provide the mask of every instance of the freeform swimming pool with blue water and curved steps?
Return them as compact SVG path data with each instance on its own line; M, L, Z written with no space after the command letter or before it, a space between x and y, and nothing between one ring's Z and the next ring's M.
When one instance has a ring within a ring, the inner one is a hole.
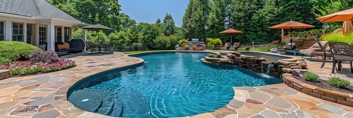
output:
M207 53L140 56L141 66L89 78L69 95L76 107L112 117L169 118L215 111L233 99L232 87L282 80L229 65L203 64Z

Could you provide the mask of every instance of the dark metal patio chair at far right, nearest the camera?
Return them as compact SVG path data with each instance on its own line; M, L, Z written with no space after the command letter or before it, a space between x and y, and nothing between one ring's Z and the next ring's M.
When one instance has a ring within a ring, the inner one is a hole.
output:
M336 63L338 63L337 70L341 71L341 62L349 61L351 66L351 73L353 73L353 47L344 43L336 43L331 46L332 53L332 73L335 72Z

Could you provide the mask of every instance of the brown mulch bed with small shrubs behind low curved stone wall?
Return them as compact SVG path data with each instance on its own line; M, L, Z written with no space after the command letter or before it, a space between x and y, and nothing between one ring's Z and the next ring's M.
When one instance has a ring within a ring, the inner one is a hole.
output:
M353 93L353 86L348 86L348 87L341 89L341 88L336 88L336 87L331 86L330 84L328 84L328 82L326 80L322 80L322 79L320 80L320 82L316 83L316 82L305 81L302 79L302 77L299 77L296 75L292 75L292 77L294 77L295 79L302 81L306 84L320 87L323 89L330 89L330 90L335 90L335 91L340 91L340 92L345 92L345 93Z

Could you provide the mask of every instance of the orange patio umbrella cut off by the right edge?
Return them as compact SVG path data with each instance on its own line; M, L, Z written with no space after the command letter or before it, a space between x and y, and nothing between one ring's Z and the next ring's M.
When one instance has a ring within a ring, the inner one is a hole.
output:
M320 18L316 18L321 22L344 22L343 23L343 34L347 34L353 29L352 20L353 20L353 8L326 15Z

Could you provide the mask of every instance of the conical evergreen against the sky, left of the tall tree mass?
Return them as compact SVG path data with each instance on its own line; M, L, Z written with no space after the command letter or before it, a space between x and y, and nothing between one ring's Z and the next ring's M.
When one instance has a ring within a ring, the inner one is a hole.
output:
M163 28L164 35L169 36L176 33L175 31L176 25L171 14L167 13L167 15L164 17L163 26L164 26Z

